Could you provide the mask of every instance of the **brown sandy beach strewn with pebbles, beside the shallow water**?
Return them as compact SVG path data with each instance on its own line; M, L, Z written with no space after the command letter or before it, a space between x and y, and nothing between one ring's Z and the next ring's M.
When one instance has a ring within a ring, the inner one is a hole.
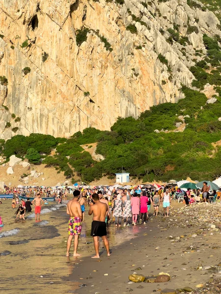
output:
M192 237L200 229L197 223L190 227L169 227L169 222L178 223L180 220L183 221L182 218L182 215L170 215L165 219L150 217L146 225L121 228L120 230L129 229L128 234L134 235L123 244L111 246L110 257L102 248L100 238L100 258L81 256L82 261L79 262L79 259L70 256L69 262L73 265L73 272L64 280L86 285L76 290L76 294L126 294L132 291L134 294L154 294L168 288L175 291L184 287L193 288L196 291L194 293L210 293L203 292L203 288L197 289L195 286L205 285L217 274L217 269L212 267L217 267L221 262L221 233L214 232L212 235L205 230L203 235ZM81 248L79 253L81 254ZM196 270L199 264L203 266L202 270ZM136 270L138 268L140 269ZM133 272L144 276L166 272L169 273L170 280L166 283L129 282L128 276Z

